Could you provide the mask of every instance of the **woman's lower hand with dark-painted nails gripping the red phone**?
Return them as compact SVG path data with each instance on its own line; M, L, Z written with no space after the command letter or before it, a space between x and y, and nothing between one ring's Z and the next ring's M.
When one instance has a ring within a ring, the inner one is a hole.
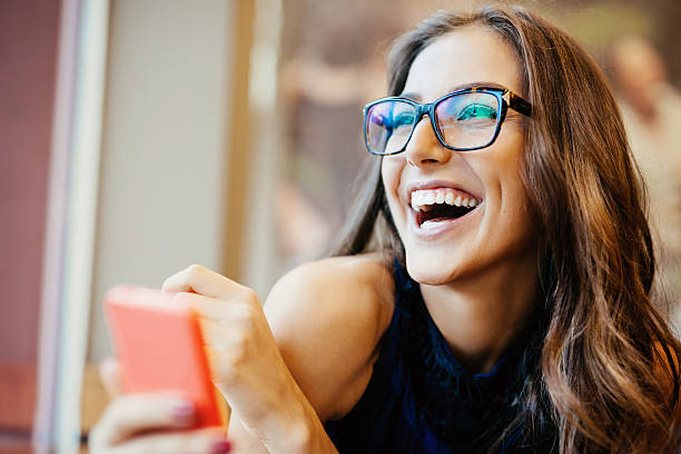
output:
M119 394L118 365L102 363L101 378L110 395ZM228 453L225 430L188 430L194 424L190 402L167 394L129 394L114 398L90 432L92 454Z

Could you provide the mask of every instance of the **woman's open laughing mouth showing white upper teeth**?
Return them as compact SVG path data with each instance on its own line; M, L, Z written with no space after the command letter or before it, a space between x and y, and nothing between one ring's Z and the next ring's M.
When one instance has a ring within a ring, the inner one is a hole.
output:
M421 228L458 219L473 211L480 200L475 197L450 188L415 190L412 193L412 209L416 211L416 223Z

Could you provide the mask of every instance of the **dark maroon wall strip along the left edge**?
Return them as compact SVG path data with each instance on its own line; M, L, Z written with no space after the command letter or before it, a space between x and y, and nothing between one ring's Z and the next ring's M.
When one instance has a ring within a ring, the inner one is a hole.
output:
M28 452L61 1L0 1L0 451Z

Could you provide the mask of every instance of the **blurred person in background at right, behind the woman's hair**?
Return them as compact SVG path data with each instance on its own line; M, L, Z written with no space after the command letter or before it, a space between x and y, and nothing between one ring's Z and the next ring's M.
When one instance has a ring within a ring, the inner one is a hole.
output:
M681 327L681 96L660 53L626 36L611 51L612 75L634 157L648 185L649 220L659 261L659 294Z

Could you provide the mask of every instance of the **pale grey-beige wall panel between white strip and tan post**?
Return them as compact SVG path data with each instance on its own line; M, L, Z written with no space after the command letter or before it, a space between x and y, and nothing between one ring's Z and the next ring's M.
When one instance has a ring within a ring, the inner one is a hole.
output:
M101 310L120 283L159 287L221 259L233 2L111 2L89 357L111 354Z

